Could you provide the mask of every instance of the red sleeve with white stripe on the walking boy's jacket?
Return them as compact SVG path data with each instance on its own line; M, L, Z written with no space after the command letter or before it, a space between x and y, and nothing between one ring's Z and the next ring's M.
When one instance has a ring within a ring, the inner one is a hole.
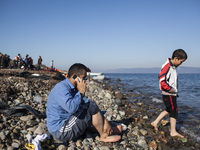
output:
M167 64L163 67L163 69L161 70L158 78L159 78L159 82L160 82L160 89L162 91L170 91L171 90L171 86L167 83L167 73L169 71L170 68L170 64Z

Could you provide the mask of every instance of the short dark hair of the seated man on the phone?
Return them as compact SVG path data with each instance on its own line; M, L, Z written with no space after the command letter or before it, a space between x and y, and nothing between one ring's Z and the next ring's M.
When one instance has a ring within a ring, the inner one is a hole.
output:
M81 63L75 63L69 68L67 77L70 78L73 74L80 76L83 73L83 70L88 72L89 68Z

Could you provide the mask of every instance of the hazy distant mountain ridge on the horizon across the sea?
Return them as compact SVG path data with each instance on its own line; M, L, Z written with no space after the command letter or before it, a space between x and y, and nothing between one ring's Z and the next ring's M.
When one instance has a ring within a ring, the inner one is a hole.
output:
M119 68L106 70L104 73L159 73L161 68ZM178 73L200 73L200 68L197 67L184 67L177 68Z

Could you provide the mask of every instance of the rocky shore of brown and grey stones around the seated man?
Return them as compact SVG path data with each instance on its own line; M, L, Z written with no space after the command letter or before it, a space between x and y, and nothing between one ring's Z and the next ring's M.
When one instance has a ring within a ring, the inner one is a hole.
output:
M53 72L0 70L0 149L26 149L27 135L48 133L46 128L46 102L60 76ZM162 120L155 132L150 122L161 108L143 103L138 95L125 95L114 90L108 81L87 81L86 97L96 101L112 125L123 123L122 139L116 143L99 141L97 133L85 133L76 141L62 143L50 140L56 150L197 150L200 144L192 137L173 138L169 135L169 122ZM117 86L117 85L113 85ZM48 133L49 134L49 133ZM41 143L43 149L45 141Z

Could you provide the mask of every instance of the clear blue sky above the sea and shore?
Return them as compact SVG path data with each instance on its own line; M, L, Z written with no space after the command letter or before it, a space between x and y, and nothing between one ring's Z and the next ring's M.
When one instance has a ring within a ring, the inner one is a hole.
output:
M0 52L67 70L161 67L175 49L200 67L199 0L0 0Z

